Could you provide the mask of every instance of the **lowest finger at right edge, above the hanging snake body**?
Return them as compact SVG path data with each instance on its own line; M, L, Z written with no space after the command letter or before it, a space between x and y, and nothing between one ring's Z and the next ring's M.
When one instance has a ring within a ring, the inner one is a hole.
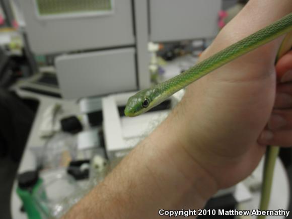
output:
M263 145L290 147L292 145L292 130L270 131L265 129L260 134L258 143Z

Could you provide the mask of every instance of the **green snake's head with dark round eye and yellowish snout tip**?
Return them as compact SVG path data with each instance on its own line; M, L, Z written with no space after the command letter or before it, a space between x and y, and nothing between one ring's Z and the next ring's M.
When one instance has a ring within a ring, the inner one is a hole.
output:
M157 103L156 99L160 95L158 89L145 89L128 99L125 115L129 117L138 116L144 112L147 112L151 108L155 107Z

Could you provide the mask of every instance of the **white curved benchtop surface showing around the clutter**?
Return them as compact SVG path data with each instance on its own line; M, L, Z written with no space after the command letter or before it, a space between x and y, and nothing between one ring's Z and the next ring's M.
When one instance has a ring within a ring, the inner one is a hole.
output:
M36 168L36 159L32 152L32 148L41 148L44 147L46 138L40 137L40 127L42 122L42 116L44 111L51 106L52 104L60 104L62 107L62 117L68 115L81 115L80 106L77 100L64 100L57 97L49 97L41 94L36 94L29 91L23 91L20 89L16 90L17 94L22 98L30 98L39 101L39 107L26 143L26 147L23 153L22 160L19 165L17 173L22 173L24 171L34 170ZM263 168L263 159L260 162L258 168L254 171L254 175L261 179L261 173ZM14 219L27 218L26 213L21 212L21 200L16 193L17 181L15 180L13 190L11 193L11 213ZM275 172L273 178L273 186L271 192L271 200L269 209L287 209L289 203L289 182L288 177L285 171L285 168L278 158L275 165ZM238 200L240 204L237 205L238 209L254 209L258 208L260 200L259 190L254 192L247 191L244 188L243 183L239 183L235 187L234 191L235 199ZM252 217L251 218L256 218ZM274 218L269 217L268 218ZM283 217L278 217L283 218Z

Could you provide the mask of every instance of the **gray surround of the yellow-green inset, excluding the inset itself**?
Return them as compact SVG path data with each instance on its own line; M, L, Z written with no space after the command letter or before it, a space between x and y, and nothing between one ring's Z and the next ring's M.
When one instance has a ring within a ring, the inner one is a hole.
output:
M102 16L40 19L34 0L20 1L32 51L49 54L134 44L131 0L114 1Z

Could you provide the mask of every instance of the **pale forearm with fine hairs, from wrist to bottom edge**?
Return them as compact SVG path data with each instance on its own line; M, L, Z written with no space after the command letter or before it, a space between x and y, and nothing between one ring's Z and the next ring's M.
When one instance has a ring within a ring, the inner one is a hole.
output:
M173 131L168 119L64 218L157 218L161 208L203 208L216 185Z

